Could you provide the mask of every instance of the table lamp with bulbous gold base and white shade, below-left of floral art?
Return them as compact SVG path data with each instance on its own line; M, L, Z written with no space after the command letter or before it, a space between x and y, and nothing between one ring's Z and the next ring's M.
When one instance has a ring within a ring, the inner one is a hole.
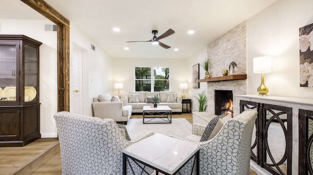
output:
M261 85L258 87L260 96L267 96L268 87L264 84L264 73L272 72L272 56L262 56L253 58L253 72L262 73Z

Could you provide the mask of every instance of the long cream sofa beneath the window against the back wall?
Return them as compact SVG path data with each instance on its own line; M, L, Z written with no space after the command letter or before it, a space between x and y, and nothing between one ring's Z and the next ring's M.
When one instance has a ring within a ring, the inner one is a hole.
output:
M147 92L147 91L138 91L138 92L130 92L129 94L138 94L139 102L130 102L128 101L128 105L132 105L133 113L142 113L143 106L152 106L153 103L147 103L148 96L159 96L160 102L157 105L167 105L172 109L172 112L181 114L182 112L182 104L181 97L177 97L175 102L166 102L167 94L175 94L175 92L170 91L160 91L160 92ZM121 98L122 99L122 98ZM128 96L129 99L129 96Z

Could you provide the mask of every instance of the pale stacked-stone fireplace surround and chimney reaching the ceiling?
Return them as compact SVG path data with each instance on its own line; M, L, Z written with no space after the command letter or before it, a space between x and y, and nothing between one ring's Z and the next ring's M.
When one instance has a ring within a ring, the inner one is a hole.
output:
M207 58L210 59L209 72L211 77L223 77L222 70L228 69L229 64L234 61L238 67L238 74L246 74L246 21L225 33L220 38L211 42L207 46ZM203 83L204 84L204 83ZM207 82L207 112L216 114L215 96L216 90L232 91L233 98L236 95L246 95L247 80L221 80ZM235 101L235 100L233 100ZM233 104L234 111L239 104ZM237 115L237 114L234 114Z

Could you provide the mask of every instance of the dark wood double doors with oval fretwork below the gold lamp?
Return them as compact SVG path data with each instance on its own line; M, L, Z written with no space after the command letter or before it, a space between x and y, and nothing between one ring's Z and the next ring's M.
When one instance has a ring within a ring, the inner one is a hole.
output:
M240 112L246 109L258 112L253 134L255 139L252 140L251 146L251 160L272 175L291 175L292 108L240 100ZM284 172L286 167L287 172Z

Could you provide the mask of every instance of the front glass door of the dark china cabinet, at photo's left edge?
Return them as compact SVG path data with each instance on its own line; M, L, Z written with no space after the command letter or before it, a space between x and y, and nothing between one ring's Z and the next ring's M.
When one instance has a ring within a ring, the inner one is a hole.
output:
M16 101L17 42L0 45L0 101Z

